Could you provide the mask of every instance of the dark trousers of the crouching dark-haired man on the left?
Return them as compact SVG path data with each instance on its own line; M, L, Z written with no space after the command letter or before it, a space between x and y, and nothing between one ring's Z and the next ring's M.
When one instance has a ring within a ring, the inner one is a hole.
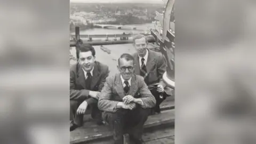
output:
M75 100L70 100L70 121L73 121L74 124L78 126L83 125L83 117L84 115L77 115L76 110L79 107L79 105L82 103L82 101L75 101ZM98 103L92 103L90 104L87 109L91 109L91 116L93 119L96 119L96 121L101 121L101 111L98 108Z

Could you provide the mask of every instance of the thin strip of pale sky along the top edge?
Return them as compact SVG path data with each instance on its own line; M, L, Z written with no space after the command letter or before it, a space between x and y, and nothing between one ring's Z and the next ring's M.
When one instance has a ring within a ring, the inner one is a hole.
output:
M163 0L70 0L71 3L163 3Z

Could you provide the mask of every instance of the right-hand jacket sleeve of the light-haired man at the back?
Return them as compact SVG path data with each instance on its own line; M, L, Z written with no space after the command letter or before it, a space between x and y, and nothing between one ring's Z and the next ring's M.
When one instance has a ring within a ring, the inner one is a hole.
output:
M166 84L163 81L163 75L164 75L165 71L166 71L166 62L165 62L163 55L161 55L161 56L159 56L159 61L157 64L157 73L158 73L158 79L160 79L159 83L161 85L163 85L164 87L166 86Z

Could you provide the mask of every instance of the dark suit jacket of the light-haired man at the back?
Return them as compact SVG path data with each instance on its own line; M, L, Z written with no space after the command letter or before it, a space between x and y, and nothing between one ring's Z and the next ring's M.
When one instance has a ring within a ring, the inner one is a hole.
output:
M135 70L134 73L140 75L140 59L138 53L133 54ZM147 80L149 89L153 87L154 84L159 83L164 86L164 90L167 94L171 95L171 89L166 87L163 81L163 74L166 71L166 62L163 55L159 52L151 51L148 49L148 59L146 63L147 68Z

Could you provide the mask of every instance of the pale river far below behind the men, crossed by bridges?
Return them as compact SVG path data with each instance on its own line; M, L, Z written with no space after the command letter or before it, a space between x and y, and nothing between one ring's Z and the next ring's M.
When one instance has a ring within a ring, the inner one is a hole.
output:
M140 27L147 30L148 28L154 28L154 23L146 23L143 25L126 25L126 26L132 26L132 27ZM103 29L103 28L94 28L94 29L86 29L81 30L81 35L99 35L99 34L122 34L122 33L141 33L141 31L138 30L128 30L128 29ZM74 33L72 33L74 34ZM93 46L96 54L96 60L102 63L105 63L109 66L110 74L114 75L118 72L117 70L117 59L120 57L123 53L134 53L135 49L132 46L132 44L118 44L118 45L104 45L109 50L111 50L111 53L108 54L100 49L100 46ZM72 47L71 54L76 55L75 47ZM75 60L70 60L70 64L74 64Z

